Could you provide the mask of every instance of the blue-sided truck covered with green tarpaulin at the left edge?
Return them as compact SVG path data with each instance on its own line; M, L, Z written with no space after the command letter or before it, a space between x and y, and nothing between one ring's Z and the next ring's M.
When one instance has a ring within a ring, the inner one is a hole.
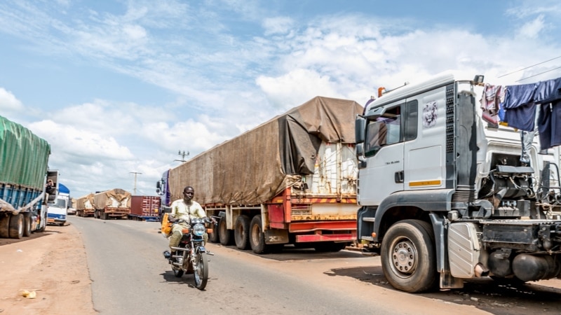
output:
M20 239L45 230L49 155L46 140L0 116L0 237Z

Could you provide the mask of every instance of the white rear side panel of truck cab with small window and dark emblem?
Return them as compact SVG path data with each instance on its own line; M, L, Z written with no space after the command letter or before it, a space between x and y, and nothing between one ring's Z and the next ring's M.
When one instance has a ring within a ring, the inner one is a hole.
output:
M446 89L407 98L405 106L405 190L445 188Z

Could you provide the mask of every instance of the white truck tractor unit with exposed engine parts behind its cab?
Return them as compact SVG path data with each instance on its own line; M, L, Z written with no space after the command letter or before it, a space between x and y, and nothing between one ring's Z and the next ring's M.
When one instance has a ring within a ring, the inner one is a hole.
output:
M405 85L356 120L358 241L380 253L399 290L560 276L558 147L484 123L482 78Z

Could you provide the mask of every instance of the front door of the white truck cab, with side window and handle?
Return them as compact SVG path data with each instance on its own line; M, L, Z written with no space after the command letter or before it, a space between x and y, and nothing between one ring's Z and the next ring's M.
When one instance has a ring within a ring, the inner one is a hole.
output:
M397 104L388 107L382 116L367 120L367 166L360 172L360 204L379 205L388 195L403 190L401 111Z

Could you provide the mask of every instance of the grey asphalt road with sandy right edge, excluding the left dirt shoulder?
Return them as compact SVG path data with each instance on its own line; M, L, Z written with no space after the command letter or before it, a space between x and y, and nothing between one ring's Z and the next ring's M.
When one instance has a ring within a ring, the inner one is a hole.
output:
M540 300L532 306L536 296L548 294L552 305L561 300L561 290L539 293L540 286L532 287L538 295L531 290L514 302L500 294L486 298L485 290L496 289L485 282L412 295L388 286L379 257L295 248L255 255L219 244L207 246L215 255L201 291L192 275L173 275L162 255L168 240L158 233L159 223L74 216L69 222L81 232L93 304L101 314L550 314Z

